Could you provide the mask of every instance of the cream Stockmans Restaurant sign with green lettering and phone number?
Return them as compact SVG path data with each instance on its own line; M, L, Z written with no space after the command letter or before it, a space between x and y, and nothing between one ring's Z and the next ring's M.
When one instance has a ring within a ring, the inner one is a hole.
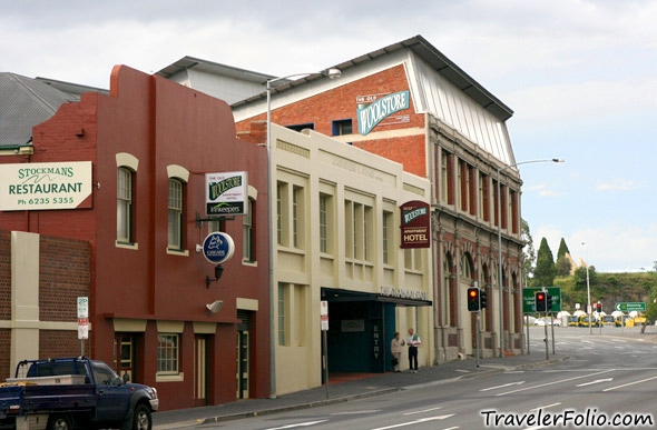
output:
M0 164L0 210L91 207L91 161Z

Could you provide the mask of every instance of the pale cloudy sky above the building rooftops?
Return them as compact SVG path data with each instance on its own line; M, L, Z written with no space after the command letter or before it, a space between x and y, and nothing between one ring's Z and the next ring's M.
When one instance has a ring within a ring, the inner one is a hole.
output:
M321 4L321 6L318 6ZM287 76L421 34L513 111L536 247L657 261L657 1L0 0L0 71L108 88L185 56ZM586 242L586 246L582 246Z

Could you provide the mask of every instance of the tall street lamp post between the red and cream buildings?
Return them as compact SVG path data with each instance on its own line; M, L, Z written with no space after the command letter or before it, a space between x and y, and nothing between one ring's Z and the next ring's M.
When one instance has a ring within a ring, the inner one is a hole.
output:
M274 168L272 163L272 83L290 79L290 78L297 78L304 77L308 74L322 74L324 77L329 77L331 79L340 78L342 72L340 69L327 69L320 72L308 72L308 73L295 73L288 74L282 78L274 78L268 79L266 82L267 89L267 192L269 199L269 229L268 229L268 239L269 239L269 318L272 323L269 324L269 398L276 398L276 331L274 330L274 320L272 318L275 314L276 303L274 302L274 292L275 292L275 279L274 279L274 252L276 250L274 246L274 229L276 228L275 224L275 213L276 213L276 199L274 198L274 192L276 191L274 187Z

